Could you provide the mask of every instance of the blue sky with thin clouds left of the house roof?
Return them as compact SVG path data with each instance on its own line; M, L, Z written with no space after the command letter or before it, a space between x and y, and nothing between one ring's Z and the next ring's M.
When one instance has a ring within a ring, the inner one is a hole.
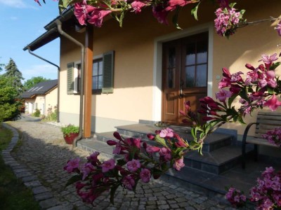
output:
M8 64L10 58L18 66L24 81L37 76L58 78L58 69L22 50L44 34L46 26L58 13L58 1L0 0L0 64ZM33 52L59 66L59 38ZM5 69L0 72L5 73Z

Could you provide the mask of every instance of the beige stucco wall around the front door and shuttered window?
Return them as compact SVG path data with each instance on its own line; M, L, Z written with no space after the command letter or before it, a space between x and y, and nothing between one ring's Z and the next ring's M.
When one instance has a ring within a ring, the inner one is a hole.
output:
M264 1L239 1L237 7L245 8L247 20L257 20L268 18L270 15L277 17L280 15L280 1L265 3ZM102 55L103 52L115 50L115 89L113 94L99 94L92 96L93 131L103 132L112 130L114 126L106 125L105 122L133 123L138 120L161 120L157 110L161 112L161 71L157 71L157 64L161 65L161 47L156 51L155 46L161 46L162 41L172 38L180 38L181 34L199 33L203 26L214 20L214 8L208 2L202 2L199 10L199 21L190 18L190 8L183 8L179 23L183 31L175 29L174 25L161 25L152 17L150 9L135 15L128 13L122 28L115 20L108 20L102 28L94 28L94 57ZM213 9L210 9L213 8ZM169 16L171 22L171 16ZM206 29L206 27L204 27ZM84 34L74 33L67 29L74 38L83 41ZM230 71L244 71L244 64L247 62L256 66L262 53L272 54L278 52L276 45L280 42L273 26L270 22L256 26L249 26L239 29L237 34L230 39L217 36L214 28L209 30L211 43L209 43L209 86L208 93L214 97L218 91L218 77L221 77L221 68L229 67ZM211 36L211 34L214 34ZM172 36L170 36L172 35ZM161 38L162 37L162 38ZM166 37L163 38L163 37ZM155 55L155 52L156 55ZM77 62L80 59L80 49L70 41L61 38L61 60L60 60L60 111L64 118L63 123L77 124L79 114L79 95L67 95L67 71L68 62ZM211 60L210 60L211 58ZM159 79L158 79L159 80ZM157 90L155 94L155 90ZM160 97L159 97L160 95ZM156 96L156 97L155 97ZM153 102L154 99L157 102ZM159 103L158 103L159 102ZM70 118L67 118L71 116ZM158 116L158 117L155 117ZM247 118L249 122L254 118ZM107 121L106 121L107 120ZM101 123L103 122L103 123ZM100 125L103 124L103 125ZM105 125L104 125L105 124ZM241 134L243 125L226 125L232 129L237 129Z

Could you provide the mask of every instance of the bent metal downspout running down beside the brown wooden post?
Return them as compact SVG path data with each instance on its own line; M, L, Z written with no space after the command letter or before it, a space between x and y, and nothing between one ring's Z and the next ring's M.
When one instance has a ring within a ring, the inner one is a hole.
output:
M58 26L58 32L68 38L70 41L76 43L81 47L81 83L80 83L80 113L79 113L79 134L73 141L73 147L77 146L77 141L81 140L83 132L83 96L84 96L84 57L85 57L85 46L77 41L75 38L66 34L62 29L62 23L60 20L55 20L55 23Z

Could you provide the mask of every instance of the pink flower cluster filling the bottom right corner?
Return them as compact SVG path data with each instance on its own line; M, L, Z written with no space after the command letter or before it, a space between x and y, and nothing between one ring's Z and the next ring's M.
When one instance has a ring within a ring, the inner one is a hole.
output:
M280 209L281 207L281 172L275 173L273 167L267 167L257 179L257 184L250 190L251 202L257 202L256 209Z

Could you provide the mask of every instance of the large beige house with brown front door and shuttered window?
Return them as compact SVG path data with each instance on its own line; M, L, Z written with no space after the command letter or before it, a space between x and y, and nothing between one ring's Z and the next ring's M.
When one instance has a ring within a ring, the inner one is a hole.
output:
M277 18L280 6L277 0L237 4L246 9L249 21ZM258 66L261 54L280 51L277 22L238 29L227 39L216 34L211 2L200 5L198 21L190 17L191 8L185 6L178 17L182 30L174 27L171 16L170 25L159 24L150 8L138 15L126 13L123 27L112 18L100 28L81 27L72 8L48 23L46 33L24 50L33 52L60 37L60 122L78 125L83 116L86 138L140 121L179 124L183 102L190 100L196 110L198 99L215 97L222 67L247 72L245 64ZM239 136L245 125L224 128L237 130Z

